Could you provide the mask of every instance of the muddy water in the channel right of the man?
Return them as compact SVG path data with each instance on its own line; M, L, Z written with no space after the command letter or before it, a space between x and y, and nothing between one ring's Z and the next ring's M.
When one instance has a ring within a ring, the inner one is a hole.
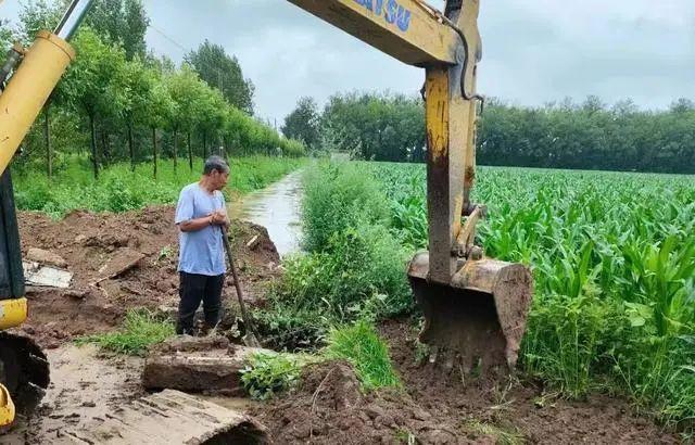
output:
M230 205L232 218L247 219L268 229L280 256L300 250L301 171L250 193Z

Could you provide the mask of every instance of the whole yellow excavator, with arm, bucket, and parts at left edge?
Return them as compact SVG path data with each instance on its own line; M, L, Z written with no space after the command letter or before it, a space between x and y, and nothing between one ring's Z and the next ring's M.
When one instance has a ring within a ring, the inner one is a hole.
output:
M508 369L517 361L532 295L529 269L486 258L476 244L484 205L471 202L476 92L482 47L480 0L447 0L444 11L422 0L288 0L366 43L425 69L429 250L415 255L408 277L425 323L420 340L444 369ZM90 0L74 0L53 33L28 50L15 46L0 72L0 329L27 317L12 185L8 166L75 52L70 39ZM319 55L320 56L320 55ZM7 80L7 82L5 82ZM443 357L443 359L440 359ZM0 425L30 411L49 383L46 356L30 340L0 336Z

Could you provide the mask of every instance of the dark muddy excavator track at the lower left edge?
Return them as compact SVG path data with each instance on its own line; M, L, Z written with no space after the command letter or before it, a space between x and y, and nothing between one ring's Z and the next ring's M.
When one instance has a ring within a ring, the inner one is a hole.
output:
M50 383L50 368L31 339L0 332L0 382L10 391L20 415L34 412Z

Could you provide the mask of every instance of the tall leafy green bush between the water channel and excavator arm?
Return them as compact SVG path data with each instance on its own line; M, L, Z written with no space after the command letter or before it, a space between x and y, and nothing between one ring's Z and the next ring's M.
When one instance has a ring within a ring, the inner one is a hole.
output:
M285 347L314 347L330 326L388 317L413 305L407 251L388 227L386 196L348 164L321 164L305 176L305 244L260 314L262 331ZM302 338L302 335L305 335Z

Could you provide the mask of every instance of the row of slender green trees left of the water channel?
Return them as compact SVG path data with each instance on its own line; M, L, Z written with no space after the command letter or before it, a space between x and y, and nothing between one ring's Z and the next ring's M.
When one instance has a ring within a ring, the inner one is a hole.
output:
M0 24L0 43L28 43L39 29L55 25L63 7L62 0L25 4L17 29ZM77 60L26 138L20 165L36 164L45 154L51 176L55 152L89 147L96 177L103 164L122 160L134 167L152 161L156 176L163 155L175 168L187 156L192 168L194 154L304 153L301 142L253 118L253 84L236 58L205 41L176 67L147 53L148 24L140 0L96 2L73 40Z

